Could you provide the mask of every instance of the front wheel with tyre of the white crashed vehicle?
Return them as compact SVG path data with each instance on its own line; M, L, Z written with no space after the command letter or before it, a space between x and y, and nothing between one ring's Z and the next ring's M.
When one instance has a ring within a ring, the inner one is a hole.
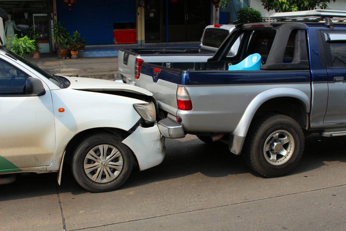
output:
M90 192L120 187L130 176L133 152L109 133L89 136L75 149L71 169L77 183Z

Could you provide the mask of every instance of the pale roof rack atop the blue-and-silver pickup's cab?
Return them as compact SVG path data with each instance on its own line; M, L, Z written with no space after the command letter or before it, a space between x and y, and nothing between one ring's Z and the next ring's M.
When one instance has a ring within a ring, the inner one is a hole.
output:
M325 25L334 29L333 23L346 23L346 10L304 10L279 12L270 16L280 21L325 21Z

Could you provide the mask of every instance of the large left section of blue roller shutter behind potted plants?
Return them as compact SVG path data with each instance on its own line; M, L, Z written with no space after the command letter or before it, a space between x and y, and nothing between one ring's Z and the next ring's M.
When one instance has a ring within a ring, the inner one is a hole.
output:
M62 0L56 0L56 11L70 35L78 30L88 45L113 44L111 0L79 0L71 12Z

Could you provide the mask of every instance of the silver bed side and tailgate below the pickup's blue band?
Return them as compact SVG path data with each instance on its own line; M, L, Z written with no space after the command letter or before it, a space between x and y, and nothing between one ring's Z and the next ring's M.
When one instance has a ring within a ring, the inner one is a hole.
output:
M182 85L191 97L193 109L190 111L178 110L177 84L161 79L154 83L151 76L142 74L140 85L154 93L159 107L169 113L168 117L182 118L181 125L186 132L223 132L245 136L256 110L265 101L276 97L297 98L304 104L306 112L310 112L310 82Z

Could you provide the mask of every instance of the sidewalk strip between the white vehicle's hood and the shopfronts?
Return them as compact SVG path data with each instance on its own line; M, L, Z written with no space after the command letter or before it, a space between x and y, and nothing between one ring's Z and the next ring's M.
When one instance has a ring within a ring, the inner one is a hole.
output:
M41 54L41 57L32 59L28 55L25 58L48 73L59 75L114 80L118 73L118 57L114 56L62 59L57 54Z

